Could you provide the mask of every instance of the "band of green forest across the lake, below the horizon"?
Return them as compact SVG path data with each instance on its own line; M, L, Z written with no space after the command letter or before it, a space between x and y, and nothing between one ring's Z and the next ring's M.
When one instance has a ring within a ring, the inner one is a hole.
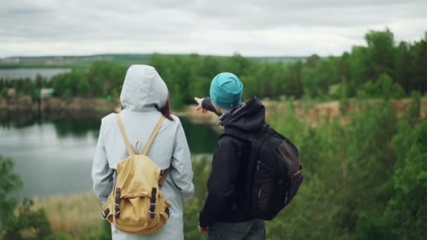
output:
M135 64L154 66L166 82L175 109L207 95L213 76L232 72L242 79L244 99L252 95L274 100L348 98L404 98L412 91L427 92L427 36L420 41L396 43L390 30L365 34L366 46L353 46L341 56L311 55L296 62L256 61L242 55L162 55ZM54 88L60 98L117 99L129 63L93 62L52 79L0 79L0 96L9 88L38 96L39 88Z

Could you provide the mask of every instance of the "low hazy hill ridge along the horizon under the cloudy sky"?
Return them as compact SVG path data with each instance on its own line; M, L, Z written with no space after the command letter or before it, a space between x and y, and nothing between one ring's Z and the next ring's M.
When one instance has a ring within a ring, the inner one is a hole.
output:
M190 54L176 54L190 55ZM95 61L120 62L124 65L132 63L145 63L150 61L152 54L100 54L83 56L35 56L23 57L15 56L0 58L0 68L18 68L18 67L88 67ZM221 56L218 56L221 57ZM262 62L296 62L305 60L303 56L282 56L282 57L246 57L255 61Z

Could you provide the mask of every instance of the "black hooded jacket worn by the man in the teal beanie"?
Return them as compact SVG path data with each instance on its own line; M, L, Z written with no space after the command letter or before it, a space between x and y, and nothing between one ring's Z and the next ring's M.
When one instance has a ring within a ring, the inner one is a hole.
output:
M202 107L216 112L211 100L205 98ZM218 114L219 115L219 114ZM246 205L243 189L249 160L249 142L227 134L230 129L241 133L261 131L265 123L265 108L256 98L235 107L220 117L225 131L220 135L212 159L212 171L207 183L208 197L199 215L200 227L214 222L244 222L251 220L242 206Z

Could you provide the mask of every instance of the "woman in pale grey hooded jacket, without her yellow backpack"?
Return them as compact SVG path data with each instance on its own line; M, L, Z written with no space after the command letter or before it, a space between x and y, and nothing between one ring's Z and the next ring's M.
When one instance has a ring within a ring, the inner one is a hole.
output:
M168 98L166 84L154 67L129 67L120 94L121 120L131 145L140 141L145 146L161 114L166 117L147 156L162 170L171 166L161 190L172 204L172 214L166 225L153 234L130 235L112 225L112 239L184 239L183 204L194 194L193 173L187 139L178 117L169 113ZM127 156L115 116L109 114L101 122L92 166L93 190L103 204L112 191L117 162Z

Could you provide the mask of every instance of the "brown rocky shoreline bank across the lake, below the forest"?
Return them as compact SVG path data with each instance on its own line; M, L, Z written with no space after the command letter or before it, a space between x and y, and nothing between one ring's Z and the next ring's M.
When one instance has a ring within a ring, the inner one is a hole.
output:
M398 117L403 116L409 108L412 100L403 98L400 100L389 100L395 108ZM265 105L265 115L285 113L291 107L298 118L308 120L311 126L318 126L324 121L339 119L343 123L350 120L349 114L359 111L359 105L364 102L380 103L381 100L348 100L346 103L338 100L329 102L316 102L315 100L294 101L270 101L261 100ZM33 99L31 96L19 96L13 98L0 98L0 120L21 118L22 116L41 116L42 119L54 119L55 117L77 116L102 116L110 112L119 112L119 100L105 100L103 98L41 98ZM195 111L196 105L188 105L172 114L178 117L186 117L194 124L210 124L217 126L218 116L212 112L202 114ZM420 117L427 117L427 98L421 98ZM219 128L215 128L221 131Z

